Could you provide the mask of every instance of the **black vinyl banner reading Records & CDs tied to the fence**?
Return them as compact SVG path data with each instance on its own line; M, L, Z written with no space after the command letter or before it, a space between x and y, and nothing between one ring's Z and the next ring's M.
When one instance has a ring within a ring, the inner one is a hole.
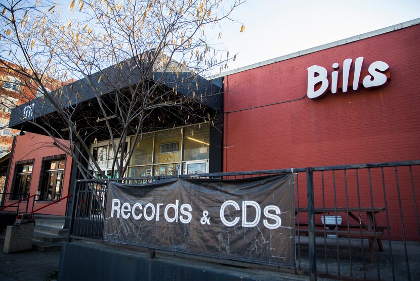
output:
M109 182L104 240L295 265L295 175Z

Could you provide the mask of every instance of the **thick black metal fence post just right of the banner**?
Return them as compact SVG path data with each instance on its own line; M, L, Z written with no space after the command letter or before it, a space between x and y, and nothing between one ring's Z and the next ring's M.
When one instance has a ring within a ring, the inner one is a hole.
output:
M306 168L306 188L308 193L308 246L309 246L309 278L316 280L315 256L315 219L314 219L314 177L313 168Z

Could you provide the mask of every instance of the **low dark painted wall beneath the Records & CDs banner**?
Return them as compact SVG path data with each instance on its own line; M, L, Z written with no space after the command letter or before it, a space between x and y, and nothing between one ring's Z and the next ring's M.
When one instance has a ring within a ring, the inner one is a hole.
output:
M58 280L250 281L284 280L278 272L237 268L181 257L151 259L137 253L94 242L64 243Z

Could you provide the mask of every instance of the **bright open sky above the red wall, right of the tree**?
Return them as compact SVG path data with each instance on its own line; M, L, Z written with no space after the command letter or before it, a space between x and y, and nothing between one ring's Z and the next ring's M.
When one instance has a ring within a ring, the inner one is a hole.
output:
M247 0L221 25L229 70L420 18L412 0Z

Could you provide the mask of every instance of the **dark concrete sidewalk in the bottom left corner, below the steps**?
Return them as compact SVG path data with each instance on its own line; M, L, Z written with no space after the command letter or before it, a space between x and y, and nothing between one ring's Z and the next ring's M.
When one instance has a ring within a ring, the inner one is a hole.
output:
M4 254L0 243L0 280L45 281L57 278L60 251L38 252L36 250Z

